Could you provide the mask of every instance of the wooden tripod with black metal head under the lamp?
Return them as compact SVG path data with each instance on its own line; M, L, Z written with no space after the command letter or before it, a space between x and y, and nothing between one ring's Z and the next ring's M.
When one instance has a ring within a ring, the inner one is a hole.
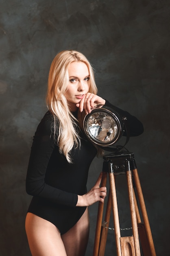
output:
M104 162L101 186L106 186L107 174L109 174L110 189L104 225L102 224L104 204L99 202L93 256L104 256L105 254L111 209L113 211L117 256L141 256L139 241L143 256L156 256L144 197L135 165L134 154L123 151L105 155L103 158ZM118 203L115 186L115 175L118 174L126 174L133 236L121 237L120 235ZM143 223L141 222L140 213L137 206L137 197L135 196L133 184L136 188Z

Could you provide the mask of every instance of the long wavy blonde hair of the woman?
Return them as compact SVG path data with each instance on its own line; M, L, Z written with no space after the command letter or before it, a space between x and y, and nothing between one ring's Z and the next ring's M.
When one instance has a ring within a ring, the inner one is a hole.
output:
M74 61L81 61L87 65L90 77L89 92L97 94L94 71L87 58L81 52L65 50L59 52L51 63L46 97L48 109L54 115L54 139L59 146L60 153L65 155L69 163L72 162L70 155L72 148L80 146L80 137L76 131L76 118L72 115L65 98L69 83L68 67Z

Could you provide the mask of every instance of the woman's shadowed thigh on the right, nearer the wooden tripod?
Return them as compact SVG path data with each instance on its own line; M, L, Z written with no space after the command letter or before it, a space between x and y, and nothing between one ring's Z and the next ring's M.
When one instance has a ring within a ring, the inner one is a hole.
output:
M89 239L89 213L85 210L80 220L61 236L67 256L84 256Z

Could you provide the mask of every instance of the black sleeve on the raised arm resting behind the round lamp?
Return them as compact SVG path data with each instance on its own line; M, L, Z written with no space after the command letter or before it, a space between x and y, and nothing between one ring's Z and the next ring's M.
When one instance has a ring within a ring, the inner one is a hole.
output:
M109 108L113 108L118 112L120 115L124 116L127 118L127 122L129 125L129 130L130 130L130 136L138 136L141 135L144 132L144 127L141 121L139 121L136 117L133 115L129 114L129 112L124 111L114 105L112 105L109 101L106 100L106 103L103 107L108 106ZM124 131L123 136L126 136L126 131Z

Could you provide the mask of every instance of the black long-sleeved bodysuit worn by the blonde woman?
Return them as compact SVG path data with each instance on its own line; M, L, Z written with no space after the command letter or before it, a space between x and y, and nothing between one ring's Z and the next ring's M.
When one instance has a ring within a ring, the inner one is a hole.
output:
M113 107L108 101L105 105ZM143 132L138 119L116 109L128 117L131 136ZM76 207L76 203L78 195L87 192L89 166L97 150L81 132L81 148L72 148L72 164L69 164L54 143L53 125L53 115L48 111L33 138L26 176L26 192L33 195L28 212L52 222L64 234L76 224L86 209Z

